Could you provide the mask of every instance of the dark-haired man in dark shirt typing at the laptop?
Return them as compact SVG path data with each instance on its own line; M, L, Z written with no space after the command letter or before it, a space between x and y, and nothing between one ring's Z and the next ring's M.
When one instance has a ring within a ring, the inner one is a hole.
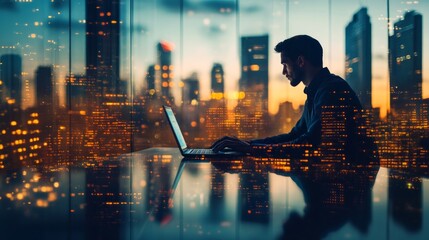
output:
M322 142L322 115L326 116L326 113L330 113L331 118L341 116L346 119L344 123L346 134L338 135L339 137L347 135L347 139L343 142L353 142L349 137L355 135L358 128L352 122L355 118L351 114L360 111L362 107L347 82L331 74L327 68L323 68L323 50L320 43L310 36L298 35L278 43L274 50L280 53L282 74L290 80L290 84L293 87L300 82L305 85L304 93L307 94L307 100L301 119L287 134L250 141L223 137L212 145L213 150L231 148L240 152L257 153L261 149L273 148L273 146L277 148L286 145L318 147ZM339 114L333 110L338 111ZM325 124L325 126L328 125ZM335 137L331 136L331 138Z

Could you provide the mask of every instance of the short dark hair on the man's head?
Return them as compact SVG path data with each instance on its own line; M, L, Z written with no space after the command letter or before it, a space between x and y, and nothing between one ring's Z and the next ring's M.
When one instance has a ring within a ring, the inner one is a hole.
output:
M279 42L274 50L295 61L304 56L314 66L323 66L323 49L319 41L308 35L297 35Z

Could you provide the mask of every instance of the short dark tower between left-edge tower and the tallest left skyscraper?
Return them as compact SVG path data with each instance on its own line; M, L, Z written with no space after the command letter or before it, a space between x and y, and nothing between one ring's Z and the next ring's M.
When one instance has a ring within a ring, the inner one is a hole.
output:
M36 70L37 106L52 106L52 67L39 66Z

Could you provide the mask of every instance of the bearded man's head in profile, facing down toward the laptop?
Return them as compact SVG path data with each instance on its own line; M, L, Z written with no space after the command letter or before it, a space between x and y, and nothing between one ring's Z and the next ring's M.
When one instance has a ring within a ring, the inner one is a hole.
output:
M292 86L311 81L314 70L323 67L323 49L320 43L307 35L297 35L279 42L274 50L281 53L283 75Z

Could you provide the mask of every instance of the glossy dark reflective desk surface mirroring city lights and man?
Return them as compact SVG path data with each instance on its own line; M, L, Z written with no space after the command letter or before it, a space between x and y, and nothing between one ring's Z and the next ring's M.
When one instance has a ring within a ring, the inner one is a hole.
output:
M427 171L152 148L0 176L2 239L429 239Z

